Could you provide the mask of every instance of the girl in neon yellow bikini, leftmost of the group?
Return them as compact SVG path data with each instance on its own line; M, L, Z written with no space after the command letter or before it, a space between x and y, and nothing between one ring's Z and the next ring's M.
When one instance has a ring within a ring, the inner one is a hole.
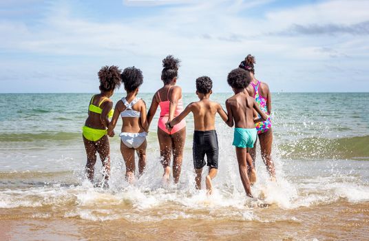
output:
M104 169L105 182L103 187L108 187L110 173L110 147L107 138L107 127L109 126L109 117L113 115L113 102L109 99L114 90L120 86L120 70L118 67L104 66L98 72L100 79L100 94L92 96L89 101L88 117L83 129L83 143L87 154L86 173L87 178L93 182L94 166L96 163L96 151L101 158ZM114 136L111 133L109 136Z

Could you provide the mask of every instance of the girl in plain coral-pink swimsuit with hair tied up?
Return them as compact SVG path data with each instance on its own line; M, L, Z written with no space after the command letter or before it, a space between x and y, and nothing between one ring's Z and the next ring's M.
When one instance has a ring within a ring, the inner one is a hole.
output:
M183 110L182 89L176 85L179 63L180 61L171 55L162 60L163 69L161 79L164 86L154 94L149 112L147 112L147 123L150 125L156 109L160 106L158 139L160 159L164 168L162 177L165 182L169 182L171 154L173 154L173 179L175 183L178 183L182 167L184 140L186 139L186 122L182 120L171 129L171 132L167 130L165 125Z

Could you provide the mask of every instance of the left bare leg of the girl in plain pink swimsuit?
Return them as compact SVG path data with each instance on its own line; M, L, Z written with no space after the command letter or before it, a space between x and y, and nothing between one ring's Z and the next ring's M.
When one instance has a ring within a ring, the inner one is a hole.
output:
M164 168L162 180L164 182L169 182L169 176L171 173L171 136L158 127L158 139L160 145L160 161Z

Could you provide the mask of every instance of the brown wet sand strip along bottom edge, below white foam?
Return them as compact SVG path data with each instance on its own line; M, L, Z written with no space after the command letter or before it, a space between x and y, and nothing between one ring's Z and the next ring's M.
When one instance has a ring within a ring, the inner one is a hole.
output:
M158 222L63 218L52 207L0 209L0 240L368 240L369 202L284 210L255 207L259 220L178 218ZM204 211L202 211L204 212ZM49 213L36 218L34 213ZM50 217L49 217L50 216Z

